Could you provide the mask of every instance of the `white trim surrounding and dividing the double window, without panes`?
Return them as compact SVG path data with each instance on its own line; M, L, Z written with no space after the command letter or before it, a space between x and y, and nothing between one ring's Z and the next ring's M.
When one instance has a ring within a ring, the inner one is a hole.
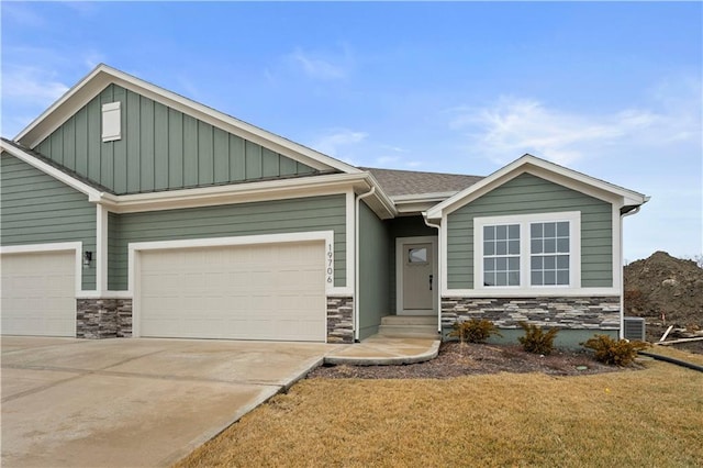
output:
M531 286L531 237L529 224L537 222L569 222L569 285ZM498 224L520 224L520 286L483 286L483 226ZM473 219L473 288L477 292L501 294L539 296L562 294L565 290L581 288L581 212L537 213L509 216L488 216Z

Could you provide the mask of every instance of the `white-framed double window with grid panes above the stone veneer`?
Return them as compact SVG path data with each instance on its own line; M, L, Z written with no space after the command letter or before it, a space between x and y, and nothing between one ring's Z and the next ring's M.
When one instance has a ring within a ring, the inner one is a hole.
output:
M473 220L475 288L579 288L581 213Z

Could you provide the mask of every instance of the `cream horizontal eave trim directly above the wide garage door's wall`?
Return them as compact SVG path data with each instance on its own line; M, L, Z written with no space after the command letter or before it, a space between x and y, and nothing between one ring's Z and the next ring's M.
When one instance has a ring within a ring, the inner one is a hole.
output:
M364 174L334 174L304 179L269 180L127 196L102 193L100 202L115 213L212 207L342 193L349 187L365 187L365 179Z

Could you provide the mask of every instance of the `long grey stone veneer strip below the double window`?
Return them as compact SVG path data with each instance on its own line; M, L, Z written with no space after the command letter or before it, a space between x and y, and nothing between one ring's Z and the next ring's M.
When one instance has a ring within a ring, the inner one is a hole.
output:
M442 327L457 321L490 320L499 328L520 322L569 330L620 330L620 297L442 298Z

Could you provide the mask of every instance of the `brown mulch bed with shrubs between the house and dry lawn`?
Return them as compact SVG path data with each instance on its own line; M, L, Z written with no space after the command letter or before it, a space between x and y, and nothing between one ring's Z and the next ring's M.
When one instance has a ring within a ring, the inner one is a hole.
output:
M587 352L555 350L548 356L526 353L521 346L443 343L432 360L404 366L322 366L308 378L326 379L449 379L498 372L543 372L551 376L583 376L644 367L606 366Z

